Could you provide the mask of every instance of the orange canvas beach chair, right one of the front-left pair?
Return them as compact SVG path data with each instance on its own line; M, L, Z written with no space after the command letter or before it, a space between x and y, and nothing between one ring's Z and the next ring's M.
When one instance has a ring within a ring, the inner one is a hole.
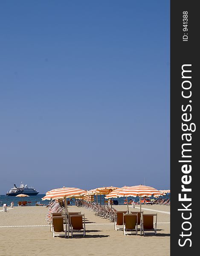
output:
M78 215L70 215L70 230L71 230L71 236L74 235L74 231L83 230L83 236L85 236L85 215L84 214L78 214ZM77 235L77 234L76 234Z

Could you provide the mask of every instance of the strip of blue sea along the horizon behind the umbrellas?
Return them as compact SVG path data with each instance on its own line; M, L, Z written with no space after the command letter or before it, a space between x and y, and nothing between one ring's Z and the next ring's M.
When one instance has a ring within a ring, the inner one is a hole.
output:
M45 196L45 194L38 194L38 195L32 195L29 197L23 197L23 198L19 198L19 197L15 197L15 196L7 196L7 195L0 195L0 207L3 206L3 204L6 204L7 206L10 206L11 202L14 202L14 206L18 205L18 201L27 201L27 203L29 203L29 206L35 206L36 202L38 202L38 204L44 204L44 205L48 205L49 204L49 200L44 200L42 201L42 198ZM169 195L164 195L162 198L169 198ZM96 202L96 196L94 197L95 202ZM128 197L128 201L130 201L130 199L132 199L135 202L139 201L139 197ZM151 197L151 199L153 199L153 197ZM155 199L155 198L154 198ZM72 205L75 205L75 199L72 198ZM104 196L103 195L98 195L98 203L100 204L100 200L101 200L101 204L104 204ZM126 198L113 198L113 200L118 201L119 205L124 204Z

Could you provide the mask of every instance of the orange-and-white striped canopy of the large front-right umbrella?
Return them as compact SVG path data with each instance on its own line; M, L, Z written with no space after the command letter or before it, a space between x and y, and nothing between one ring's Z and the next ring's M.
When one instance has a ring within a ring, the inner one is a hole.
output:
M128 197L128 196L139 196L139 197L151 197L151 196L158 196L161 195L162 193L154 189L151 186L145 186L145 185L138 185L138 186L130 186L126 189L123 189L121 192L119 192L118 197Z

